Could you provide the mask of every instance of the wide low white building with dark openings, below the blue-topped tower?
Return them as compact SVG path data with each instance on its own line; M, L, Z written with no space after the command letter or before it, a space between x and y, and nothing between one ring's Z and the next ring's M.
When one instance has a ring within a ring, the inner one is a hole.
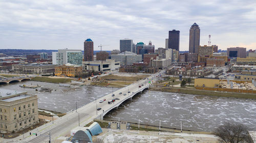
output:
M82 64L83 69L86 71L104 72L120 68L120 61L115 61L113 59L106 59L106 61L84 61Z

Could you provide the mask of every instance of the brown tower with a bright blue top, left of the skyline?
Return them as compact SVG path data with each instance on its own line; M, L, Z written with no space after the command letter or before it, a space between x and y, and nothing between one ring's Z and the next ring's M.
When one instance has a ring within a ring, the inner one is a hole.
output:
M93 41L86 39L83 43L84 61L93 61Z

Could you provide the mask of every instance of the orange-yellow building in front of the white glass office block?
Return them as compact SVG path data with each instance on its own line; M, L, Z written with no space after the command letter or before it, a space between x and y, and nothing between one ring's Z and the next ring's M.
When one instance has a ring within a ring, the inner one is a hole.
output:
M82 66L75 66L71 64L56 66L54 73L56 76L77 77L82 74Z

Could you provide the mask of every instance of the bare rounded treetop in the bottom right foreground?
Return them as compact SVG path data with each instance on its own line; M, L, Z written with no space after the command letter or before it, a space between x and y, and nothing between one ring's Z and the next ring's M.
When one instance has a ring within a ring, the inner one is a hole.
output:
M252 143L249 135L249 127L241 123L224 123L214 130L219 141L226 143Z

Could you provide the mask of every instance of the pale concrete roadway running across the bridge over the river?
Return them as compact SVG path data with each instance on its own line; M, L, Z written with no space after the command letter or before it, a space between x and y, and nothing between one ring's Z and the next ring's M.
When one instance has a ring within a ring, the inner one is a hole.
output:
M157 73L157 74L159 74L159 73ZM127 93L128 91L131 92L130 94L132 94L133 92L137 92L140 89L139 85L144 84L146 86L146 84L148 84L147 81L148 81L147 79L140 80L137 83L135 82L135 83L130 84L122 89L119 89L119 90L113 92L113 94L115 94L114 98L119 98L120 101L122 101L124 98L129 96L129 94ZM119 94L119 92L122 92L122 94ZM126 93L127 95L123 96L124 93ZM113 107L114 104L117 104L118 102L120 102L120 101L116 100L117 103L108 104L108 101L113 99L113 97L111 95L112 95L112 93L105 95L89 104L86 104L86 105L78 108L77 112L76 112L76 110L71 110L71 111L67 112L66 116L63 116L63 117L55 120L54 123L49 122L45 125L42 125L36 129L33 129L30 131L32 133L37 133L37 136L35 136L33 134L30 135L29 132L27 132L24 134L24 137L23 137L23 135L20 135L18 137L12 138L12 139L1 138L0 142L34 142L34 143L38 143L38 142L49 142L49 138L51 138L51 140L56 140L57 138L68 134L70 132L70 130L74 129L75 127L77 127L79 125L84 126L84 125L90 123L91 121L93 121L93 119L95 119L101 113L103 113L103 110L104 111L110 110L110 108ZM106 101L104 101L103 103L99 103L99 101L103 100L103 99L106 99ZM102 109L99 111L96 110L98 107L100 107Z

